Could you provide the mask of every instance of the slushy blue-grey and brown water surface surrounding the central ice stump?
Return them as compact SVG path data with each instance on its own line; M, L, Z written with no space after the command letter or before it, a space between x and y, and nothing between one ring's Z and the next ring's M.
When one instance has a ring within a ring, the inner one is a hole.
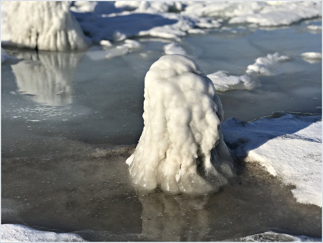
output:
M206 74L241 76L275 52L290 60L271 66L270 76L255 75L251 90L217 92L224 120L321 113L322 63L300 56L321 52L320 31L305 22L229 27L187 35L180 46ZM1 68L2 223L92 241L216 241L268 230L321 237L321 208L297 203L291 186L256 165L242 165L216 194L134 191L125 160L135 146L124 145L140 137L145 74L172 42L136 40L136 48L122 41L73 53L5 49L22 61L8 59Z

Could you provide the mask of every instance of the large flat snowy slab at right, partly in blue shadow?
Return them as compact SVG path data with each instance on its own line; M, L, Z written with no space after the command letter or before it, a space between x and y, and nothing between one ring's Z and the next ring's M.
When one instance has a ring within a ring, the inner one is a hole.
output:
M297 202L322 207L322 116L278 112L253 122L229 118L222 127L238 156L295 185Z

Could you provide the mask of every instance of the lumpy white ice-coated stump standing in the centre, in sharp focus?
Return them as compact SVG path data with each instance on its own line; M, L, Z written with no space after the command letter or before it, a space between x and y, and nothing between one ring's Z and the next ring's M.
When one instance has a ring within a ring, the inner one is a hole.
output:
M145 77L144 125L128 158L133 182L172 193L216 190L233 176L221 133L222 104L191 59L165 55Z

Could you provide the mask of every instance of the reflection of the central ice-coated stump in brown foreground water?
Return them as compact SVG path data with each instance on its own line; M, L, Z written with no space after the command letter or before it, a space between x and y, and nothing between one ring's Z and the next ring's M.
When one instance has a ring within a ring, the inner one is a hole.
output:
M205 209L208 199L208 196L184 199L165 193L139 195L142 234L157 241L201 241L211 231L210 212Z

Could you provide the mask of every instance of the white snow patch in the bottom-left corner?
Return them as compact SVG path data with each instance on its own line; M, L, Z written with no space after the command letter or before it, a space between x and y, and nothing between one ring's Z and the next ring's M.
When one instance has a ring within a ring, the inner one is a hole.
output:
M84 242L77 234L36 230L24 225L1 225L1 242Z

